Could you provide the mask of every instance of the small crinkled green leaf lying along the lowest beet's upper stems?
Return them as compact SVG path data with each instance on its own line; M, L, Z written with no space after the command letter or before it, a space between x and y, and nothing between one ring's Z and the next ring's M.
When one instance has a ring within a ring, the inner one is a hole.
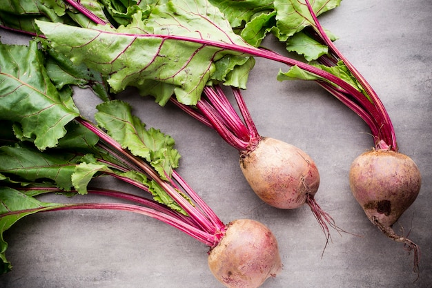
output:
M171 175L178 166L180 155L173 148L175 141L155 128L146 130L146 124L132 115L126 102L114 100L97 106L95 119L108 131L112 139L127 148L133 155L143 157L159 173L162 179Z

